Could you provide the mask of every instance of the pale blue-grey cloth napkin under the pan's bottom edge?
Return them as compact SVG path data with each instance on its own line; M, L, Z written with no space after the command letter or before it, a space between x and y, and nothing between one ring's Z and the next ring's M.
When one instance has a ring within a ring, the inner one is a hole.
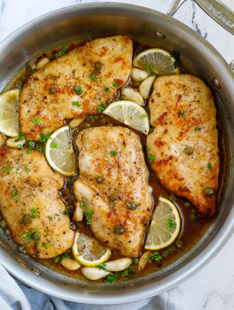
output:
M26 297L27 296L27 297ZM90 305L55 298L13 278L0 264L0 308L4 310L184 310L178 287L148 299L117 305Z

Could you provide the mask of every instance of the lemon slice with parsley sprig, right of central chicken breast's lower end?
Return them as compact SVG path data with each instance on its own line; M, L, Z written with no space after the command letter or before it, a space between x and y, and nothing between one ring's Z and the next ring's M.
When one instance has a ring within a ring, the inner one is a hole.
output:
M174 204L159 197L149 228L145 249L159 250L169 246L178 236L180 228L179 213Z

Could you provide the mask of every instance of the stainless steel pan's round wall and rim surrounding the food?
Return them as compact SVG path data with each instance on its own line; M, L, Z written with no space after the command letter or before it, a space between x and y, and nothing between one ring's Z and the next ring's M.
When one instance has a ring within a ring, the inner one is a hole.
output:
M232 15L228 18L231 20ZM218 216L196 246L169 267L134 281L108 285L68 278L20 255L1 232L0 259L11 274L46 294L80 303L131 302L169 290L201 270L222 249L234 230L234 74L204 38L181 22L147 8L108 2L82 4L43 15L1 43L0 90L27 61L45 50L68 41L123 33L151 46L176 52L181 62L188 64L213 90L219 115L224 119L222 130L226 131L229 141L225 159L227 182Z

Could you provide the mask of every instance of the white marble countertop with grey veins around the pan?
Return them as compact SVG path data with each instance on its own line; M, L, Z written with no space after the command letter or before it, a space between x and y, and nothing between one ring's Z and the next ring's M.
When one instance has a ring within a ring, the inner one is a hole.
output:
M1 0L0 41L40 15L61 7L85 2L93 1ZM114 2L137 4L163 13L166 13L171 4L171 0L119 0ZM234 11L233 0L223 0L223 3ZM234 36L210 19L192 0L185 2L174 17L205 37L228 63L234 59ZM234 309L233 249L234 235L205 268L179 286L184 291L185 310Z

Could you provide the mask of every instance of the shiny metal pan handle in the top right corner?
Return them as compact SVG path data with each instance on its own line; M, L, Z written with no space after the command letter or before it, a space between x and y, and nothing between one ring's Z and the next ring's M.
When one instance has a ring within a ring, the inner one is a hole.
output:
M179 9L181 4L187 0L174 0L171 4L167 15L173 16L175 12ZM199 7L205 11L211 18L213 18L218 24L220 24L224 29L229 31L234 35L234 12L226 7L219 0L193 0Z

